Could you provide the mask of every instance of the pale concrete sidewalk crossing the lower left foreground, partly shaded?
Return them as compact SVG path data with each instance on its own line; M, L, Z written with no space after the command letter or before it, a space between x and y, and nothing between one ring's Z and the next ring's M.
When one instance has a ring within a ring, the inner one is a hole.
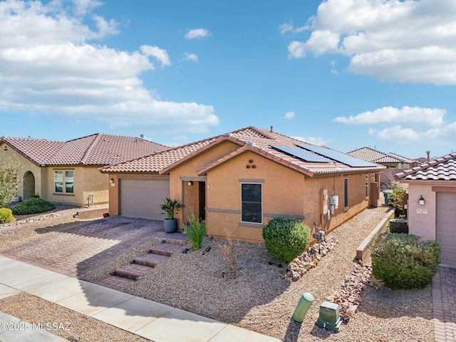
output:
M25 291L155 342L279 342L254 331L2 256L0 274L0 298ZM0 312L0 323L5 322L9 326L25 324ZM6 326L0 325L0 341L66 341L47 331L12 331Z

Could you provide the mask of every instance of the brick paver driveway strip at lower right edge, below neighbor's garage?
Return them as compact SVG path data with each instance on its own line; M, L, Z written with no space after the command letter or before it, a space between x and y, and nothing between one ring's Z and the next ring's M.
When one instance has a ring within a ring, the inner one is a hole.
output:
M432 280L435 342L456 341L456 269L439 266Z

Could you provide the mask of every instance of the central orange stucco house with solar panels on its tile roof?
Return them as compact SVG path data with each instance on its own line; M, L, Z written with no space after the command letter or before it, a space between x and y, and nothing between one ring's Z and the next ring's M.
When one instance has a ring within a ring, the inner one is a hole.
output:
M103 167L110 187L109 213L164 219L165 197L205 219L208 234L263 242L273 217L296 217L326 232L378 205L384 167L326 147L248 127ZM356 234L356 232L353 232Z

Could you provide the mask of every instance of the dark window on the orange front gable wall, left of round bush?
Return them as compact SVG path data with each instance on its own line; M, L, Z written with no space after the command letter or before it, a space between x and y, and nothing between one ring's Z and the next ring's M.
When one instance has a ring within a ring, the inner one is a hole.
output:
M261 223L263 214L261 184L241 184L241 220L242 222Z

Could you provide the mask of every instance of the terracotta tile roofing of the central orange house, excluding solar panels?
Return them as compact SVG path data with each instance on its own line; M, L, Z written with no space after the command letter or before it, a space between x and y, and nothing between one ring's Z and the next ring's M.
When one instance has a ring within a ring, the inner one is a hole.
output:
M203 167L202 170L198 171L199 174L202 175L212 167L217 167L229 158L246 152L247 150L252 150L259 155L263 155L264 157L279 162L286 167L290 167L309 176L328 175L333 173L366 172L368 170L381 170L385 168L380 165L375 165L373 167L350 167L336 161L306 162L305 160L276 150L274 147L271 147L271 145L296 147L296 144L310 144L306 144L306 142L302 142L301 140L289 138L285 135L271 132L269 130L247 127L235 130L231 133L217 135L216 137L208 138L206 140L199 140L188 145L158 152L155 155L103 167L100 171L102 173L160 173L165 175L173 168L181 165L183 162L186 162L209 148L227 140L239 145L239 149L222 157L220 160L215 160L210 165Z

